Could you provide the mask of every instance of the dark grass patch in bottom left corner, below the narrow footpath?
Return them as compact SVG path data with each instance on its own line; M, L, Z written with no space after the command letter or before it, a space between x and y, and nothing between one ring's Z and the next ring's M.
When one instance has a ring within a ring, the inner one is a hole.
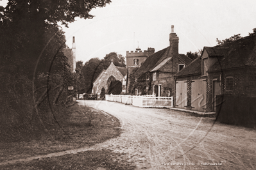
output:
M122 159L120 159L122 158ZM133 162L128 161L126 154L110 150L84 151L60 157L43 158L30 162L8 164L1 169L87 169L96 170L98 167L116 170L135 169Z

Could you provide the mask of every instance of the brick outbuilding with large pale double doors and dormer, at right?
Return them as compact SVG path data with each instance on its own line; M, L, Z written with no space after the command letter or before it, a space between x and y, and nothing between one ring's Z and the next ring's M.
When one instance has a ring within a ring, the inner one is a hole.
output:
M201 56L175 75L175 107L216 111L216 95L256 97L255 36L204 47Z

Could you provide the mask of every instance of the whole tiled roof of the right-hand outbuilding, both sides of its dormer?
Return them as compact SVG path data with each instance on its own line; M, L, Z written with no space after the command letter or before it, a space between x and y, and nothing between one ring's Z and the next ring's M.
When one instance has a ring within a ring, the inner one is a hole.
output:
M210 57L218 58L208 72L220 71L242 66L256 66L256 36L246 36L232 43L215 47L204 47ZM201 57L175 74L175 77L201 74Z

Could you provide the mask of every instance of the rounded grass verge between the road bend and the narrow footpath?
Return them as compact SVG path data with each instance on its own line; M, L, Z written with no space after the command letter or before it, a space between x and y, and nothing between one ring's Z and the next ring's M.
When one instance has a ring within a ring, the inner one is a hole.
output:
M76 104L64 114L69 115L56 115L62 128L53 123L45 125L40 137L31 141L0 143L0 162L92 146L117 137L121 131L117 118L90 107Z

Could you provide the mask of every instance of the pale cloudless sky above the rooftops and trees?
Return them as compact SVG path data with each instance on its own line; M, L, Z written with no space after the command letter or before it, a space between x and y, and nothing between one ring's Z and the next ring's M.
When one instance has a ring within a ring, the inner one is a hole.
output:
M0 1L0 4L3 1ZM76 38L76 61L104 58L110 52L169 46L171 25L179 37L179 53L196 52L256 27L255 0L112 0L93 9L93 19L77 18L63 27L67 45Z

